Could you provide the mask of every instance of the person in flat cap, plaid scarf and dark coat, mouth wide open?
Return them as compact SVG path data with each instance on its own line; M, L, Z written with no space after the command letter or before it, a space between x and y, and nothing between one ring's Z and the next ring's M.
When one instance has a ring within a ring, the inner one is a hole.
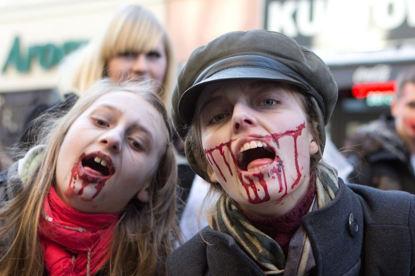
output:
M345 185L321 161L338 87L323 61L264 30L196 49L172 118L219 192L175 275L415 275L415 196Z

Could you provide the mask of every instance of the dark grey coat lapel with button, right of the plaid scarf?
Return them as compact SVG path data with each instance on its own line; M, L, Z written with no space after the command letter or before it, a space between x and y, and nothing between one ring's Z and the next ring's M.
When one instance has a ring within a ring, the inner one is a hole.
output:
M306 214L317 275L358 275L363 247L363 211L358 196L339 180L339 192L324 208Z

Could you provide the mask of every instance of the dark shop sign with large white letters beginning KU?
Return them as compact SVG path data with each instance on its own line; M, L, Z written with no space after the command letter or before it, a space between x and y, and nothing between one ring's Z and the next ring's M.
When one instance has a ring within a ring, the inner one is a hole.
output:
M414 0L266 0L264 28L304 46L344 47L413 38ZM383 46L382 46L383 45Z

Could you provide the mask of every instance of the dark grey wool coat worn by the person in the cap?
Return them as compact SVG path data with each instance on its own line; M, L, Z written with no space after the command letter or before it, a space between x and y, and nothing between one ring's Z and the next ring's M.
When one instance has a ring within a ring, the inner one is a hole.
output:
M339 185L333 202L303 217L314 275L415 276L415 195ZM196 234L170 255L169 276L265 275L232 237L208 226L202 233L207 243Z

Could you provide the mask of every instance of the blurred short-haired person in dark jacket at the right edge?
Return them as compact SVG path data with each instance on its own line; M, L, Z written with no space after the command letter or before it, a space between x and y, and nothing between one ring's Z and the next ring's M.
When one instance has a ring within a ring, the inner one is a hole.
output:
M343 153L354 166L350 182L415 194L415 66L398 73L396 88L392 116L359 126Z

